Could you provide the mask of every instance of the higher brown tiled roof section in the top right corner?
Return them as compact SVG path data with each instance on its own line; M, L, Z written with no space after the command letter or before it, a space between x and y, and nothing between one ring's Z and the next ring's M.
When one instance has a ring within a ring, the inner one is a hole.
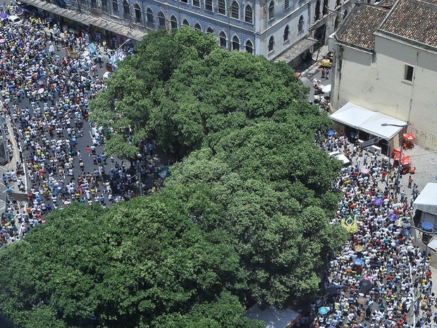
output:
M437 47L437 0L399 0L379 29Z

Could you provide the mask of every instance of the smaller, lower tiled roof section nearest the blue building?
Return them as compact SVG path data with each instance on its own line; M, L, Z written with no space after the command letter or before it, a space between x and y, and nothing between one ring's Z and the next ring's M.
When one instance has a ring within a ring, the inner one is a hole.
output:
M359 4L352 9L337 32L338 40L368 50L375 46L374 32L388 13L388 8Z

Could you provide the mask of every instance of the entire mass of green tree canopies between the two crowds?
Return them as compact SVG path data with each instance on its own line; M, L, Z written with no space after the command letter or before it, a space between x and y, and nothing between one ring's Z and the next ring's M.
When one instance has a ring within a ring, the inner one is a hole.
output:
M178 160L155 195L74 207L0 250L2 309L19 327L257 327L247 306L319 289L345 231L329 224L340 162L331 121L285 63L153 32L90 104L109 152L156 140Z

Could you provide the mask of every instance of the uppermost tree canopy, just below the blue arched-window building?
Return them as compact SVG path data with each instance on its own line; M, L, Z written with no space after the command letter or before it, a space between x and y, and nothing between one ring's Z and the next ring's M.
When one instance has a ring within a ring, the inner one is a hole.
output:
M224 51L213 37L183 28L144 37L90 106L92 119L113 132L109 152L135 154L151 133L180 158L207 135L271 117L306 94L284 62Z

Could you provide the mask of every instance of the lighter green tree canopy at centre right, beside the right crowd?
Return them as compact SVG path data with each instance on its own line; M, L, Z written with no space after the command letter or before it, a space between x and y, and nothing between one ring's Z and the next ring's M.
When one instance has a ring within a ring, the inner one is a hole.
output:
M324 166L300 164L308 158ZM305 165L305 173L293 163ZM262 122L173 165L164 193L183 200L203 229L220 228L232 237L247 279L243 294L281 307L318 290L326 253L345 238L328 224L338 196L327 196L325 181L336 169L293 126Z

